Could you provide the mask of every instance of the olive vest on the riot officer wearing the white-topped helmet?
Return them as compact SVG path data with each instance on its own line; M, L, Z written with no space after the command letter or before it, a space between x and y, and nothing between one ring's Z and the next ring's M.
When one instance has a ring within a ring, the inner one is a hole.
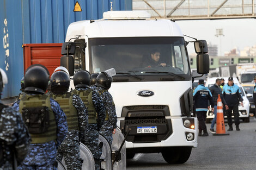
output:
M59 103L60 108L64 111L66 115L66 122L68 122L68 130L78 130L78 114L73 105L72 93L66 92L63 95L53 94L52 98Z

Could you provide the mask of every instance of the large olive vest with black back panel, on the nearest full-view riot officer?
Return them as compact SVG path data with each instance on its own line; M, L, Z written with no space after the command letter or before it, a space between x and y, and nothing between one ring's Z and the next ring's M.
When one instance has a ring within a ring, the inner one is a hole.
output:
M45 143L57 139L55 115L50 97L46 95L26 95L20 100L20 113L31 134L31 143Z

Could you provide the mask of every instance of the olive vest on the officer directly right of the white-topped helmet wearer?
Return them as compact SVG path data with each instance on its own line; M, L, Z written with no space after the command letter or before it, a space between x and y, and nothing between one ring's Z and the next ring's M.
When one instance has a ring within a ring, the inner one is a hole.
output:
M76 95L79 95L80 98L83 100L84 105L86 105L86 108L89 114L88 123L89 124L97 123L97 113L93 105L93 99L92 99L93 91L91 89L87 89L83 91L78 91L74 89L72 92Z

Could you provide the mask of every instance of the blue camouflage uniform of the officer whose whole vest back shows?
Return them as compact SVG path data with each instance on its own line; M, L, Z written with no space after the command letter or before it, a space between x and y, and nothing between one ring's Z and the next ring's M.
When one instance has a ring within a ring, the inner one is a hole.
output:
M29 95L29 94L28 94ZM13 108L19 111L20 100L14 103ZM56 140L52 140L45 143L33 143L30 144L29 152L26 158L23 160L22 165L18 169L44 169L52 170L57 169L56 156L57 147L62 143L66 137L68 131L68 124L66 122L66 116L59 104L50 98L51 109L55 115L56 121Z

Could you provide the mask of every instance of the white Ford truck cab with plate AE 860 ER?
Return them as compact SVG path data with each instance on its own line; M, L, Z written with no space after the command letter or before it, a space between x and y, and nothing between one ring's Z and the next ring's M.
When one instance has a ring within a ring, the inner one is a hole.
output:
M198 53L198 73L208 73L206 41L191 42ZM161 152L168 163L184 163L197 147L187 43L173 20L150 20L144 11L108 11L102 20L68 27L61 65L70 75L74 70L94 73L112 67L117 72L109 92L122 133L131 129L127 158ZM153 50L159 51L166 67L143 66Z

